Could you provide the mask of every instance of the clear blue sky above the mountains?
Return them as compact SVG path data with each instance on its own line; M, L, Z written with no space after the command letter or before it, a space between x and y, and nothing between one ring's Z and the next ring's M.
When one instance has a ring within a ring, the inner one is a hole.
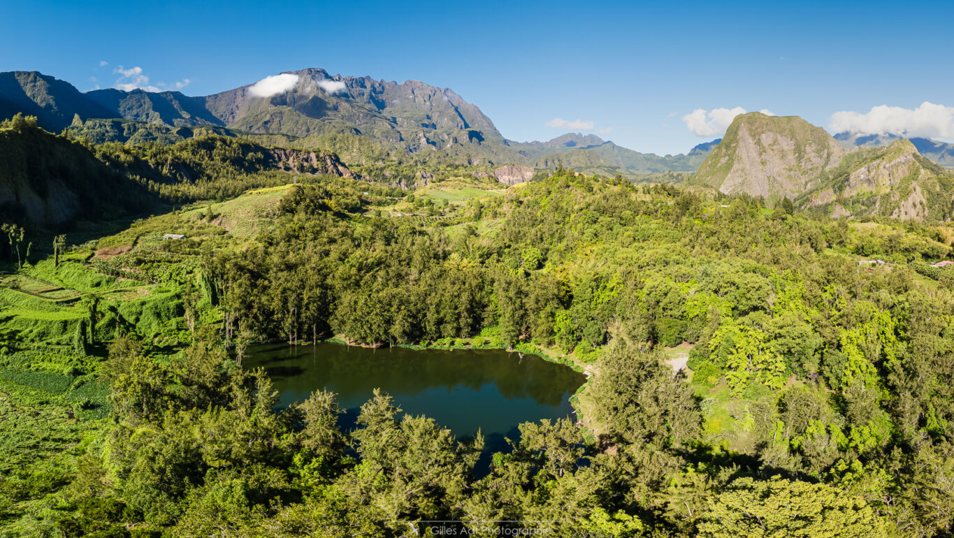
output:
M0 71L82 91L204 95L320 67L451 88L521 141L579 120L575 131L674 154L724 131L732 114L714 109L829 127L881 105L897 108L838 125L954 138L951 2L0 0L0 20ZM697 109L694 133L684 118Z

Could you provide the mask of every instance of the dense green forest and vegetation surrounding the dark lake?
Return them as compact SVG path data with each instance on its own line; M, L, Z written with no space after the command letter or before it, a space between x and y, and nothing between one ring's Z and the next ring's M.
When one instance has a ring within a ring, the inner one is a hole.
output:
M947 224L565 170L448 202L222 136L70 143L202 201L49 258L5 228L4 535L951 532L954 270L926 263ZM482 473L479 435L380 392L353 428L323 390L276 411L242 366L252 342L327 339L566 362L591 374L586 425L521 424Z

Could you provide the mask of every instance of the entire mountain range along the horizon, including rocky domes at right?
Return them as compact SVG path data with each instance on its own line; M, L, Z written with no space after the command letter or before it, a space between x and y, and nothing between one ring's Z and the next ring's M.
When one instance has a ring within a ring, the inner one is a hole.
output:
M833 136L798 116L751 113L736 116L723 138L680 155L639 153L580 133L517 142L449 89L321 69L284 72L206 96L82 93L39 72L0 73L0 118L17 113L93 143L167 145L202 135L241 135L266 148L320 149L368 177L402 186L432 176L423 172L428 167L515 164L529 167L521 177L532 176L533 168L563 166L600 176L689 179L770 203L788 197L805 210L836 217L946 218L954 205L952 174L939 166L954 166L954 144L927 138ZM403 167L399 174L374 172L393 163Z

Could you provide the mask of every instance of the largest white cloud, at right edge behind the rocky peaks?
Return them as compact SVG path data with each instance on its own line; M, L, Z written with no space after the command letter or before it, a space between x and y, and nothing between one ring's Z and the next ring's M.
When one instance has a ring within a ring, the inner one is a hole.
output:
M924 101L913 110L881 105L865 114L837 112L828 128L832 133L954 138L954 107Z

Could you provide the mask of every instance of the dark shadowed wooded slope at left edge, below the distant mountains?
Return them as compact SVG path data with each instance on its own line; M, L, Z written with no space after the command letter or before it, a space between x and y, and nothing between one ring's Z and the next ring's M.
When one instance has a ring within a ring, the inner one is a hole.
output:
M93 146L70 133L52 135L33 117L17 115L0 123L0 221L37 228L236 197L301 175L357 177L334 154L265 148L235 137Z

